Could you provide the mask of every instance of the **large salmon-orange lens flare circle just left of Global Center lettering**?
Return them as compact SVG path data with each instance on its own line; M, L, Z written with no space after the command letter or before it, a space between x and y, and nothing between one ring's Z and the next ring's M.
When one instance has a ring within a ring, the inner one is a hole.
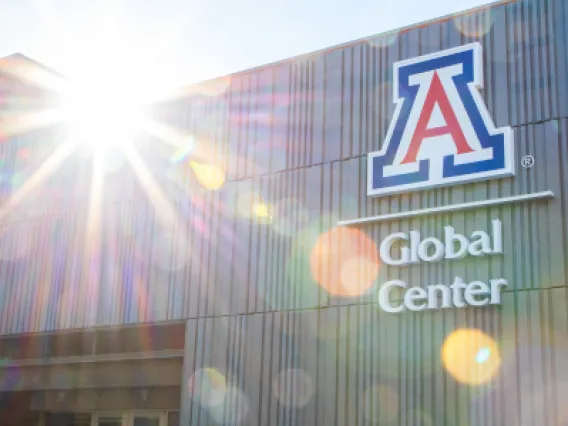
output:
M328 293L359 296L373 286L379 273L377 247L360 230L333 228L320 235L313 246L310 270Z

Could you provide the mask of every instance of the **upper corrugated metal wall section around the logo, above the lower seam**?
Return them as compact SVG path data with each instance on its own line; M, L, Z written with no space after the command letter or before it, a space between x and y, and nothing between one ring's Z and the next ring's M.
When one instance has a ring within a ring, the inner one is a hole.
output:
M372 294L330 297L310 274L313 244L338 219L548 189L557 197L544 204L365 232L378 243L394 229L431 233L453 223L465 232L500 217L505 256L456 268L490 266L516 289L565 285L567 13L562 1L513 2L190 88L157 108L155 133L193 137L191 158L226 173L217 191L202 188L186 161L170 161L171 147L159 138L141 136L139 158L111 153L103 160L102 202L89 210L92 158L73 152L2 216L0 331L370 301ZM380 148L392 116L393 62L473 40L484 47L488 108L497 126L515 131L517 176L368 198L366 153ZM5 196L63 139L57 130L38 130L2 144ZM518 166L526 154L535 157L531 169ZM148 195L144 170L133 171L129 162L146 165L162 198ZM272 219L251 213L254 203L272 206ZM163 219L170 211L180 219L176 225ZM403 271L414 279L441 273L449 274L447 265ZM378 282L392 274L398 272L382 268Z

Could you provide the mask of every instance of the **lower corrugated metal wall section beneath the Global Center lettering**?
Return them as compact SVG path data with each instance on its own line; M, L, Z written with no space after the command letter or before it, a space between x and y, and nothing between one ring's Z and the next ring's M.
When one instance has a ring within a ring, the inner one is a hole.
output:
M507 293L497 309L389 315L354 305L190 320L186 369L197 373L180 424L564 425L566 297L555 288ZM445 372L440 348L459 328L499 342L490 385ZM216 399L211 383L228 396Z

